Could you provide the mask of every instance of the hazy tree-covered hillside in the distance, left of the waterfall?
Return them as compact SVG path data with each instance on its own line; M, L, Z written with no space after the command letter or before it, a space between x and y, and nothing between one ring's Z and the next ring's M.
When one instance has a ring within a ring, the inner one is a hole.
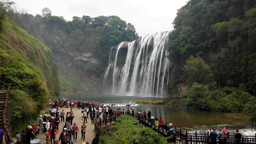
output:
M96 93L110 48L137 36L134 26L117 16L74 16L72 21L52 15L16 13L10 17L52 50L61 96Z

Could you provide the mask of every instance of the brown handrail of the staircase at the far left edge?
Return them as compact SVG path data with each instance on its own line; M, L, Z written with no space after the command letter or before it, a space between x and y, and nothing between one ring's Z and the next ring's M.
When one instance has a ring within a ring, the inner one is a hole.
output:
M1 82L1 84L4 84L6 86L8 86L8 88L6 89L5 87L1 86L2 88L6 89L6 97L5 97L5 105L4 105L4 111L3 111L3 115L2 115L2 121L3 121L3 128L5 130L5 133L7 134L7 139L10 140L11 143L14 143L14 140L12 139L12 135L7 127L7 123L6 123L6 110L7 110L7 106L8 106L8 98L9 98L9 94L11 91L11 85L9 84L5 84L4 82Z

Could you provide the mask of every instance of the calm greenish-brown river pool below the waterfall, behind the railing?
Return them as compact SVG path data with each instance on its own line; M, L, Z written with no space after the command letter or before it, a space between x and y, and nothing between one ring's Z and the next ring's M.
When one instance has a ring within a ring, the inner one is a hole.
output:
M256 129L250 129L249 126L244 124L244 119L238 118L236 114L223 113L223 112L209 112L209 111L198 111L188 110L186 108L174 108L162 105L143 105L135 104L133 100L164 100L162 97L140 97L140 96L126 96L126 95L71 95L63 96L60 100L85 100L92 101L93 103L101 103L109 105L114 111L118 108L121 110L124 108L125 111L128 108L132 108L135 113L138 110L150 109L151 116L161 117L163 122L167 124L172 123L177 128L182 130L188 130L188 132L197 131L198 134L206 134L206 130L209 127L215 128L216 132L219 128L229 126L231 130L230 135L235 134L235 130L239 129L242 135L255 135ZM111 106L113 104L113 106ZM129 105L129 106L127 106ZM80 110L76 110L80 111Z

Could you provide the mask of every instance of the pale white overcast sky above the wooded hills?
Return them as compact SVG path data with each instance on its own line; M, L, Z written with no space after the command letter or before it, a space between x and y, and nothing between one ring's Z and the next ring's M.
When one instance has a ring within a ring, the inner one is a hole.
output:
M90 17L116 15L134 25L139 36L171 31L177 10L188 0L11 0L18 10L42 15L48 7L53 16L72 21L73 16Z

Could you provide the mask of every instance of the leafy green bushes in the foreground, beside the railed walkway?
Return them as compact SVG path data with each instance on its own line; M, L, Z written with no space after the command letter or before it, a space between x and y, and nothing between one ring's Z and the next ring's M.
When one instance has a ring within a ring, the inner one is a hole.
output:
M167 144L167 137L140 127L134 117L122 114L114 125L101 128L100 141L102 144Z

